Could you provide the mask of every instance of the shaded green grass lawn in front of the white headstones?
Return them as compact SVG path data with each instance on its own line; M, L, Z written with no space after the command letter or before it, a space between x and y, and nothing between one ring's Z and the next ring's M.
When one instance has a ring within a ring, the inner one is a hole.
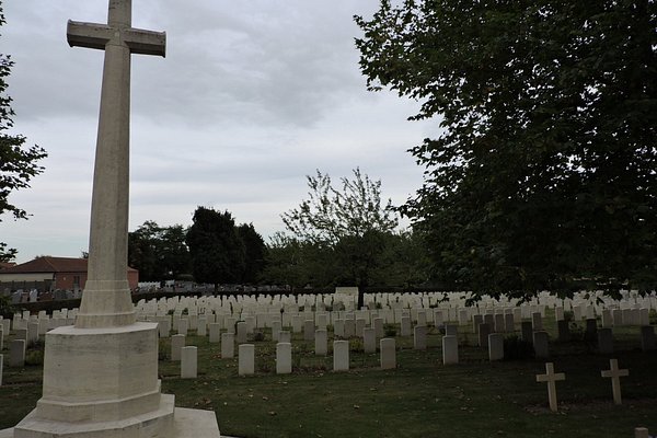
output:
M549 320L549 319L548 319ZM470 327L460 327L469 331ZM555 330L546 324L551 339ZM428 349L396 336L397 368L382 371L377 355L365 355L351 339L348 372L332 372L332 357L315 357L313 344L293 335L293 373L275 373L275 344L254 342L256 373L238 376L238 361L220 358L220 344L187 336L198 347L199 377L180 379L170 341L160 341L162 391L176 406L215 411L222 435L264 437L632 437L634 428L657 430L657 351L641 351L638 327L614 328L611 356L584 341L551 342L551 361L566 380L557 382L558 412L548 405L548 389L537 383L545 360L489 362L474 335L459 335L461 364L443 366L441 335L430 328ZM577 336L575 336L577 337ZM237 351L237 348L235 348ZM8 351L3 351L8 354ZM331 353L331 351L330 351ZM38 348L28 353L38 361ZM5 358L8 355L5 356ZM623 404L613 404L611 381L600 376L609 359L630 370L621 379ZM0 387L0 429L14 426L42 391L42 368L4 368ZM198 437L203 438L203 437Z

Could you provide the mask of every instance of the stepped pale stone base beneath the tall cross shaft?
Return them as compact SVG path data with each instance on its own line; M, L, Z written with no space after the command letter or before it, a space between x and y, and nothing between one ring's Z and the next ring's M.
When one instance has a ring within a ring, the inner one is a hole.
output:
M36 408L0 438L219 438L214 412L160 393L158 324L46 334Z

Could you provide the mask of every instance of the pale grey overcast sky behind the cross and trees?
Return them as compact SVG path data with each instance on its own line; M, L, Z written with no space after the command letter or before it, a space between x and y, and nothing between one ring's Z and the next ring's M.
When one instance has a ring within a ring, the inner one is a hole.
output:
M36 255L88 247L103 53L71 48L66 23L105 23L107 0L3 0L0 53L14 132L48 152L46 171L11 201L0 241ZM268 241L319 169L335 183L359 166L402 204L422 184L407 149L437 122L407 122L416 102L372 93L358 68L353 15L378 0L134 0L134 27L166 32L166 58L132 56L130 231L229 210Z

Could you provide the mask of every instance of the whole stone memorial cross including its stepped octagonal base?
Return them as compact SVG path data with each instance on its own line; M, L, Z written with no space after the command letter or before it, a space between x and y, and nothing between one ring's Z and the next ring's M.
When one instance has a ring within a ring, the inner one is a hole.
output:
M74 326L46 334L43 396L0 438L218 438L214 412L160 393L158 324L137 323L127 281L130 57L164 56L165 34L131 27L131 0L107 24L69 21L71 46L105 51L88 280Z

